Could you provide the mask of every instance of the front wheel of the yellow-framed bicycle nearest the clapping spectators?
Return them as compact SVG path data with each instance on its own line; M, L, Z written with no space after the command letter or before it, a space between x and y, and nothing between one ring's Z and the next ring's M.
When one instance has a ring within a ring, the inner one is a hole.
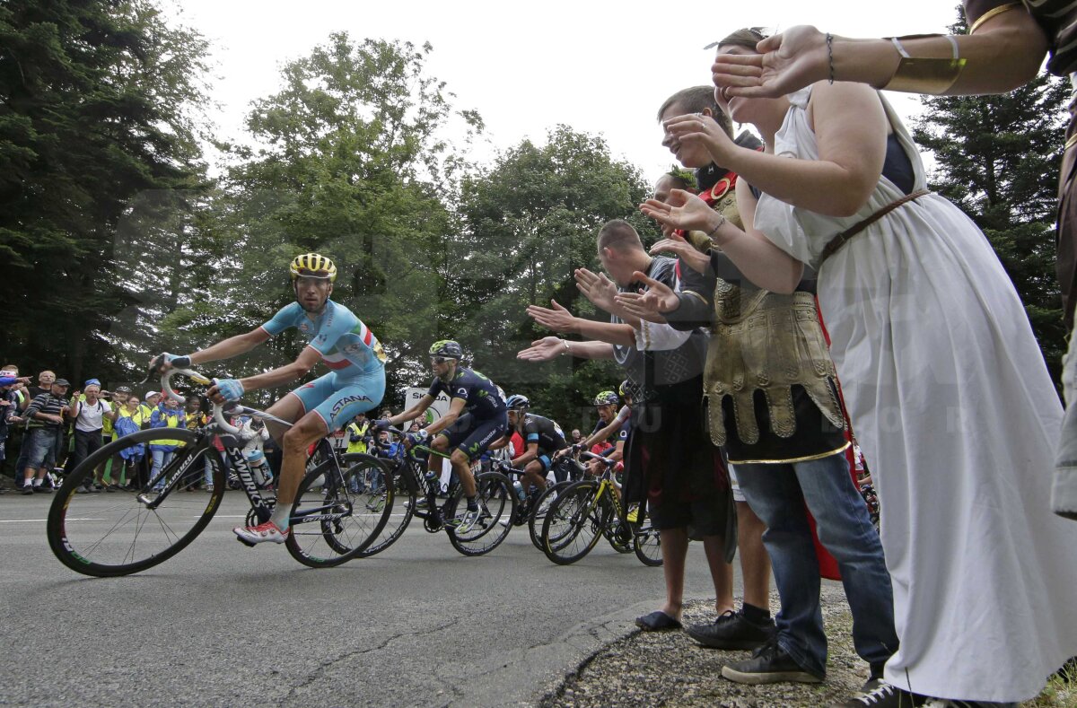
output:
M599 542L606 521L606 507L596 499L597 490L597 482L576 482L564 490L546 512L542 550L554 563L575 563Z

